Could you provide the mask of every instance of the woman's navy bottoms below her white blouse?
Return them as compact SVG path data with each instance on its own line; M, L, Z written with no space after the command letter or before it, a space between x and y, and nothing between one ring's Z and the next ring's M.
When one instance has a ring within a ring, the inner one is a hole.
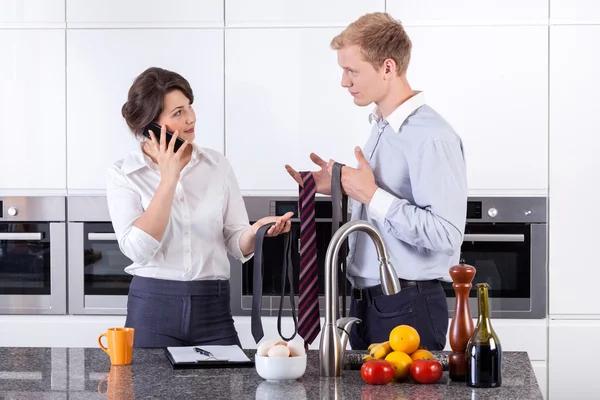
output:
M134 347L240 345L233 324L229 281L171 281L134 276L126 327Z

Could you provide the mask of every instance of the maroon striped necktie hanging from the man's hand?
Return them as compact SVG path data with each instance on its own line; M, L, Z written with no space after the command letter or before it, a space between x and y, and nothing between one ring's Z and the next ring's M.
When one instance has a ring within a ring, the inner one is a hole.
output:
M300 211L300 291L298 297L298 334L305 345L319 334L319 285L317 267L317 231L315 224L316 186L312 172L300 172L298 208Z

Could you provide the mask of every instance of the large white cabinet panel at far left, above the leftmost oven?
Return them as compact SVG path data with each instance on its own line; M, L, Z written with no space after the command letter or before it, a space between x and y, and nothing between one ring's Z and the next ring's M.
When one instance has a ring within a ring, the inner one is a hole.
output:
M65 33L0 30L0 190L65 180Z

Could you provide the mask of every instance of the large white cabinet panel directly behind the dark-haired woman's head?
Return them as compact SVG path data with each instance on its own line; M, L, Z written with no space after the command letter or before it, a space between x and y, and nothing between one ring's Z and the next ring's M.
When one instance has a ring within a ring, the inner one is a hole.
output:
M196 141L223 152L223 32L74 30L67 37L68 188L105 189L106 170L137 146L121 116L136 76L157 66L194 90Z

